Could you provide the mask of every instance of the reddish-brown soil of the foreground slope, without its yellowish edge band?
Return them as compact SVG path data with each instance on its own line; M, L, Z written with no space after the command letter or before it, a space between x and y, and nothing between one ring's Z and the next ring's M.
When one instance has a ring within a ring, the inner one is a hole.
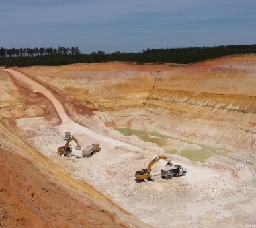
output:
M1 147L0 167L0 227L128 227Z

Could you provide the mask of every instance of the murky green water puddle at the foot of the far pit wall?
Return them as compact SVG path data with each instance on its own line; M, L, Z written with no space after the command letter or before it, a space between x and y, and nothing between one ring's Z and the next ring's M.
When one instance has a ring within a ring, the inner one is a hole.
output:
M146 132L142 130L133 130L128 128L116 128L124 136L138 136L144 142L152 142L165 150L165 153L179 154L191 161L204 162L208 157L216 154L220 156L228 156L231 151L222 150L205 146L202 144L193 144L192 142L178 140L157 132Z

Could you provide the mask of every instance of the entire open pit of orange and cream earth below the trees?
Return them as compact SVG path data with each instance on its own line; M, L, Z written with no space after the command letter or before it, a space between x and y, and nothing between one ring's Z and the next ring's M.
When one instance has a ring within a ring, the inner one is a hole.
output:
M0 82L0 227L256 226L256 55L1 67ZM186 173L157 159L136 179L157 156Z

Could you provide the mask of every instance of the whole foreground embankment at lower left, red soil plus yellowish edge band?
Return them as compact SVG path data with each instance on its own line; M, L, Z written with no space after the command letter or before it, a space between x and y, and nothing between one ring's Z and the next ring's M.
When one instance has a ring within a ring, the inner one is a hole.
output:
M0 130L0 227L129 227L103 194Z

